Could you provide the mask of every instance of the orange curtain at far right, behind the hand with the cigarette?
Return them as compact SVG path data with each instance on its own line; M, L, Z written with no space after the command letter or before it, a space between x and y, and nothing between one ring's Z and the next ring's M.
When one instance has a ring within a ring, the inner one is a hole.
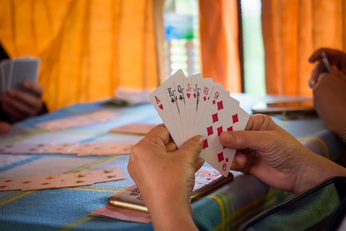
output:
M346 51L345 12L343 0L262 0L268 94L311 96L308 58L320 47Z

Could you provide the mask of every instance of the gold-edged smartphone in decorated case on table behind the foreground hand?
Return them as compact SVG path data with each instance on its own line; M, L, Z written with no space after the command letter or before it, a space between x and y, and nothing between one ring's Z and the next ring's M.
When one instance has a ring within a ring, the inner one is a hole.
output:
M195 176L195 186L192 191L191 202L233 180L233 174L231 172L228 173L228 177L224 177L220 172L209 167L202 167L196 172ZM136 185L108 197L108 204L119 208L148 213L143 197Z

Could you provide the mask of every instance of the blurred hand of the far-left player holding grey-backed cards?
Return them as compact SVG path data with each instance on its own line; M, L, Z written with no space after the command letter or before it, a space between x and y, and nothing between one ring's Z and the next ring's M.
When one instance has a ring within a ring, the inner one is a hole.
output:
M13 123L37 115L43 107L43 87L29 81L23 87L30 93L11 89L1 97L2 109Z

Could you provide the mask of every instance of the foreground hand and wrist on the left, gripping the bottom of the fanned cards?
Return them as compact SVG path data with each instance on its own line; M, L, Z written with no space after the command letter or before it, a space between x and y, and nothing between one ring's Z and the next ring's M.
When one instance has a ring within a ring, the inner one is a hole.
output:
M196 159L202 144L203 137L197 135L177 150L161 124L131 148L127 169L151 214L154 230L195 229L191 195L195 172L204 163L203 159ZM179 218L180 222L169 218Z

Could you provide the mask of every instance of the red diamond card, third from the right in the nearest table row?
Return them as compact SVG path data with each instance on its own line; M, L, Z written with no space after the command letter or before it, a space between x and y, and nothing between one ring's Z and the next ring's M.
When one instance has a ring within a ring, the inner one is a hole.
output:
M63 179L64 175L43 175L43 176L31 176L26 181L25 186L21 189L45 189L56 188L56 186Z

